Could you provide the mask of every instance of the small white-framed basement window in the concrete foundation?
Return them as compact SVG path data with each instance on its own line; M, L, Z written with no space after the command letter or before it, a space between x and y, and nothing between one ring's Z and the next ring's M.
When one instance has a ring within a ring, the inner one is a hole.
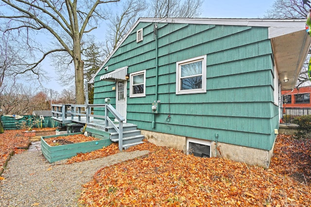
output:
M193 154L200 158L210 158L210 144L208 140L194 138L187 139L187 155Z

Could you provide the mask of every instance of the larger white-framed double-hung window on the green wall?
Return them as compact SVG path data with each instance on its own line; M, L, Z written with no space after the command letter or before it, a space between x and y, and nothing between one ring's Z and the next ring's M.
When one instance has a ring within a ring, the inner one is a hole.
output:
M176 63L176 94L206 93L206 55Z

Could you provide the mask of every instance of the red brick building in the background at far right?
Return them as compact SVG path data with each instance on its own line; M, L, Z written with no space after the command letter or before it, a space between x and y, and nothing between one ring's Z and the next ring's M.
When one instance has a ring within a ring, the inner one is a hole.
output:
M311 86L282 91L283 108L311 108Z

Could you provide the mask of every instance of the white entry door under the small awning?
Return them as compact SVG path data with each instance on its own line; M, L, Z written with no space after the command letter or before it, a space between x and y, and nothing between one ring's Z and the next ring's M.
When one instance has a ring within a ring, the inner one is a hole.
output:
M126 80L116 81L116 110L124 117L125 123L126 123L126 83L127 83Z

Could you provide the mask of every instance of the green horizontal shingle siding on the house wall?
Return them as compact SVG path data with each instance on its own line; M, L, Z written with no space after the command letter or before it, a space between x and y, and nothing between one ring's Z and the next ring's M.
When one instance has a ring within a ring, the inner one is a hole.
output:
M143 41L136 31L143 28ZM128 66L128 73L146 70L146 97L129 97L127 121L138 128L270 150L278 127L273 103L273 54L268 28L158 23L158 100L155 100L155 37L153 24L140 22L105 66L111 72ZM176 62L207 55L207 93L176 95ZM115 82L94 83L94 103L105 97L115 103ZM100 113L100 111L95 111ZM168 115L171 119L168 120Z

